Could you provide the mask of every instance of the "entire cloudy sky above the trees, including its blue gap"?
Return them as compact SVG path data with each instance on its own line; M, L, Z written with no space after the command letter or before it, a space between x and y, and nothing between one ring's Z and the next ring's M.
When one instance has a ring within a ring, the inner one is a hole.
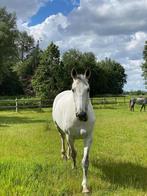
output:
M71 48L111 58L127 74L124 90L145 90L142 70L147 40L147 0L0 0L16 12L17 25L40 47L51 41L61 53Z

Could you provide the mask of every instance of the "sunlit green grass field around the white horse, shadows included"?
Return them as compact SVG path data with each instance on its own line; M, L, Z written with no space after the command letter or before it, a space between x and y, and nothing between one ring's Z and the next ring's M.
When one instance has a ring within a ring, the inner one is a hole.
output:
M147 112L128 104L95 108L91 195L147 195ZM0 195L82 195L82 141L77 169L60 158L51 109L0 112Z

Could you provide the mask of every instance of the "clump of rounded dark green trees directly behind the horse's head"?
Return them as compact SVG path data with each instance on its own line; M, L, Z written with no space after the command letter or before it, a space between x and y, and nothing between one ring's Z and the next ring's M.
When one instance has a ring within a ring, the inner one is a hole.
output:
M91 69L90 93L91 96L104 93L122 93L123 85L126 82L124 68L111 59L105 59L97 62L92 52L82 53L78 50L71 49L63 54L62 61L64 64L64 86L66 89L71 87L70 71L75 67L78 73L84 73L86 68Z

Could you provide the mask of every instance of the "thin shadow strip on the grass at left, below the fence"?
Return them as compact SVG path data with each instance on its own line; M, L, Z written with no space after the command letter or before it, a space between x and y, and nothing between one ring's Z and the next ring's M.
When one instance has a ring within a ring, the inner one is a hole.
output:
M0 127L6 127L9 124L24 124L24 123L44 123L46 120L37 120L19 116L0 116Z

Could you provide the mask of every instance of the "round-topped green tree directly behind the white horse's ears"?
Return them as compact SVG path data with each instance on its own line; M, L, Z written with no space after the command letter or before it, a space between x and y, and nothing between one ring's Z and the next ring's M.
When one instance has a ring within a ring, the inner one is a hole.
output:
M85 69L90 68L90 93L91 96L106 93L108 86L108 78L106 71L96 61L96 57L92 52L82 53L75 49L70 49L63 54L62 61L64 64L64 86L66 89L71 88L70 72L75 67L78 73L84 73Z

